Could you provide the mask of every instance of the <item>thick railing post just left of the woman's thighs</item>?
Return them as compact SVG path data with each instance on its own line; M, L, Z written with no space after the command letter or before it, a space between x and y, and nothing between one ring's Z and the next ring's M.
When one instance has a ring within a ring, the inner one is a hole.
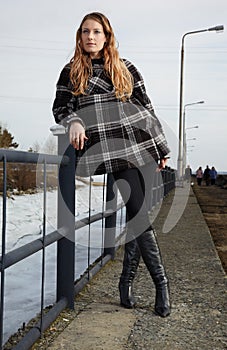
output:
M113 214L105 219L104 256L115 256L115 236L117 222L117 190L114 193L114 177L107 175L106 210L113 210Z

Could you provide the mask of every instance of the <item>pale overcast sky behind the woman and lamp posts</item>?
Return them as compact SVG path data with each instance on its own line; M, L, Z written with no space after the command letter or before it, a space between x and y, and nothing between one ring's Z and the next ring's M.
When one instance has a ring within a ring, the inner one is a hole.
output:
M185 39L183 105L188 164L227 171L227 0L0 0L0 122L19 148L53 136L52 103L75 32L92 11L109 17L121 57L142 73L177 166L180 50L183 34L223 24L222 33ZM194 126L199 128L194 128ZM196 140L191 140L196 138Z

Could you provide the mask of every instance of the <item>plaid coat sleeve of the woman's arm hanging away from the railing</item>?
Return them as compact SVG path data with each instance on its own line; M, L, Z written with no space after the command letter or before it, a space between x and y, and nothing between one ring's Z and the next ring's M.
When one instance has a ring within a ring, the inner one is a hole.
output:
M138 69L131 62L127 60L124 60L124 61L125 61L126 67L128 68L128 70L133 76L134 87L132 92L132 100L134 100L135 103L139 103L141 106L143 106L145 109L147 109L150 112L151 118L155 124L152 130L154 140L156 142L156 146L158 148L160 158L164 158L170 152L170 149L167 145L167 141L166 141L166 137L165 137L162 125L158 117L156 116L151 100L147 95L143 77L141 73L138 71Z

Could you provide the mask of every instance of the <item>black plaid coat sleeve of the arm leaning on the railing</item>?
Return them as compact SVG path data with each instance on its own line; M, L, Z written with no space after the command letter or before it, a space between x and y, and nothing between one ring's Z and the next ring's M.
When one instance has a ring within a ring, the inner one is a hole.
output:
M84 123L76 113L77 97L72 93L70 82L70 64L67 64L60 73L56 86L56 96L52 107L52 112L57 124L68 126L72 121Z

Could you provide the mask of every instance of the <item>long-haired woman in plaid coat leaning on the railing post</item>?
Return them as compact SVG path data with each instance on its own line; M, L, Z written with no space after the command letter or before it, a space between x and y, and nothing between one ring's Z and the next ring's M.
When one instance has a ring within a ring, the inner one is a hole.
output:
M77 30L74 57L62 70L53 105L55 121L68 127L77 174L112 173L128 218L121 305L135 306L132 282L140 255L156 286L155 311L170 314L168 281L146 208L151 169L165 167L169 149L136 67L120 59L112 27L101 13L86 15ZM124 181L128 186L125 186ZM149 188L149 191L151 188Z

